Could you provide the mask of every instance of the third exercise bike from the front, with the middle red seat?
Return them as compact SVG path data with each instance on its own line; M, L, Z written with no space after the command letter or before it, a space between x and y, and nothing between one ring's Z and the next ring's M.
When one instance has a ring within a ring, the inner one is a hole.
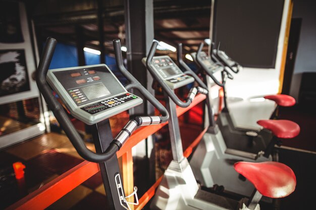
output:
M219 62L214 62L205 52L202 52L202 47L203 45L201 44L196 53L195 60L201 66L203 72L212 78L216 84L221 87L225 86L227 78L225 67ZM183 68L189 68L182 60L181 44L178 50L178 61ZM222 83L214 76L217 72L222 73ZM208 81L207 78L206 81ZM210 86L209 83L207 85ZM207 109L212 110L212 107L207 106ZM220 116L216 123L214 122L214 116L209 120L210 127L213 127L213 129L208 129L204 134L190 160L193 173L202 186L212 188L215 184L223 185L226 191L250 196L253 191L253 185L250 182L245 181L242 176L236 173L232 165L240 160L248 162L271 161L274 145L279 144L279 141L277 141L275 137L272 137L275 135L272 134L271 129L265 129L271 134L271 137L269 138L270 141L267 141L267 143L265 143L265 140L261 135L252 136L256 138L245 139L244 142L240 141L240 138L234 136L246 136L245 132L248 130L243 130L243 132L231 130L234 135L232 134L229 136L230 138L228 138L227 136L224 136L224 134L222 135L223 128L219 120L221 120ZM289 122L290 127L288 127L287 124L282 124L282 121L275 123L276 125L272 126L273 128L281 127L285 132L291 130L293 124L295 129L297 129L297 127L299 128L294 122ZM274 134L276 133L274 132ZM297 135L298 133L295 132L293 134ZM282 135L279 136L283 137ZM294 137L294 135L291 135L291 137ZM261 144L255 142L256 145L253 145L253 141L258 141ZM237 145L237 147L231 147L232 145ZM249 150L249 148L252 150Z

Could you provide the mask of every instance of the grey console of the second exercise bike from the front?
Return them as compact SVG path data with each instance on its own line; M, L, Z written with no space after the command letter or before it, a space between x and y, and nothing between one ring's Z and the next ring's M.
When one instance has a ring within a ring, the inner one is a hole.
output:
M146 65L146 58L143 58L142 62ZM194 82L191 76L183 74L168 55L154 56L151 66L171 89L177 89Z

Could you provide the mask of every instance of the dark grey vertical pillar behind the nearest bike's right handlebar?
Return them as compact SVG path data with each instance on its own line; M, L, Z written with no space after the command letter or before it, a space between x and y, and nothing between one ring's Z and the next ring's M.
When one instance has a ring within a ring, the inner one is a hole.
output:
M125 0L124 7L127 69L142 86L154 95L154 90L151 88L152 77L141 62L141 59L147 56L153 40L153 0ZM137 90L131 92L142 97ZM152 115L154 113L153 106L144 97L142 99L143 103L141 105L129 110L131 117L140 114ZM155 182L153 146L154 140L150 136L136 148L138 158L134 159L135 183L139 186L140 194L142 188L146 189ZM149 162L148 171L143 170L143 165L146 162ZM147 177L149 181L144 183L141 177Z

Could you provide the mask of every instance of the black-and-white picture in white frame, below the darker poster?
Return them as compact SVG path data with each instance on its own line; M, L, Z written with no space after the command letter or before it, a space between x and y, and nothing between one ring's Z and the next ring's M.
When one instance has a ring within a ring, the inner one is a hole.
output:
M25 51L0 50L0 97L29 90Z

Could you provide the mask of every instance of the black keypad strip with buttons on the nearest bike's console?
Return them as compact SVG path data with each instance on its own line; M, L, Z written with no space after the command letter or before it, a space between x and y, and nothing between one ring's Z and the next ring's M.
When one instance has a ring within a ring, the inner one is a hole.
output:
M108 110L112 107L120 106L128 101L136 99L137 96L134 96L130 93L122 94L113 98L108 98L104 101L90 104L88 106L82 107L81 109L88 112L89 114L96 114L104 110Z

